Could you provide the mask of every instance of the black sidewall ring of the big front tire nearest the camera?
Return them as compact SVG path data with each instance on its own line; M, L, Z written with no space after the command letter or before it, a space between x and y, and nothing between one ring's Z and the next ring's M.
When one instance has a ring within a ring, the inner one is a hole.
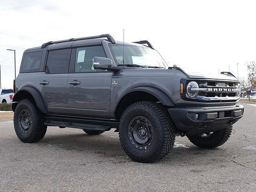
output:
M138 149L131 143L129 139L129 132L128 132L128 126L131 120L137 116L143 116L149 120L149 122L152 125L153 128L153 137L151 138L152 141L149 146L147 146L146 149ZM156 148L158 148L159 144L159 130L157 122L155 121L155 118L151 115L150 112L141 109L141 108L134 108L132 110L129 110L127 114L123 117L121 124L120 124L120 130L119 135L121 142L125 146L126 150L133 154L134 156L138 158L147 158L149 156L153 156L155 152L157 151Z

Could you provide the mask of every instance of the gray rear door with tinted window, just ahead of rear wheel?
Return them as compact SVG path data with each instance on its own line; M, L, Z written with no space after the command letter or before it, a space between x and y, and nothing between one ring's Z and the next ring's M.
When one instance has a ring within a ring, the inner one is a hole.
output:
M67 114L67 79L71 49L50 50L45 72L38 74L38 89L49 114Z

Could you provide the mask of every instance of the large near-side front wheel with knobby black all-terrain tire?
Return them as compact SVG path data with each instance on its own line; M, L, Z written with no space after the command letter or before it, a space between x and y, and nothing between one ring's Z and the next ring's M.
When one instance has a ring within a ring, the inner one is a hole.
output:
M134 128L140 121L152 130L148 146L141 147L135 144L136 141L133 142L135 139L133 135L136 132ZM135 125L133 125L133 122L135 122ZM131 130L130 128L134 132L131 133L129 131ZM121 116L119 122L119 139L123 150L132 160L143 163L155 162L164 158L173 147L175 142L175 124L167 109L161 104L136 102L128 106Z

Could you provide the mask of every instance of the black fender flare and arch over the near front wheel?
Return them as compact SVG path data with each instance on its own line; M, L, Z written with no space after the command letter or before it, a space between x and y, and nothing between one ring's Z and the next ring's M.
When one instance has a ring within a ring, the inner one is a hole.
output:
M149 100L147 100L145 98L145 100L134 100L131 99L131 103L126 102L125 107L123 106L124 104L124 100L127 96L129 96L132 93L146 93L149 96L152 96ZM122 94L122 96L119 98L116 106L115 106L115 116L117 119L120 118L121 113L123 112L123 110L129 106L129 104L132 104L134 102L138 102L138 101L152 101L152 98L155 98L155 100L158 102L161 102L161 104L163 106L175 106L171 100L171 98L169 98L169 96L167 96L164 92L162 92L161 90L155 88L155 87L150 87L150 86L139 86L136 88L132 88L130 90L128 90L127 92L125 92L124 94ZM122 107L123 106L123 107Z

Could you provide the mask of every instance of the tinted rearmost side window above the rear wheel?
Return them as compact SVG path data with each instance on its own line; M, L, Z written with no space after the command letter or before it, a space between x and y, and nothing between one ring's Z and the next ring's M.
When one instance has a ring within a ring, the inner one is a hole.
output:
M22 65L22 71L39 70L42 60L42 51L26 53Z

